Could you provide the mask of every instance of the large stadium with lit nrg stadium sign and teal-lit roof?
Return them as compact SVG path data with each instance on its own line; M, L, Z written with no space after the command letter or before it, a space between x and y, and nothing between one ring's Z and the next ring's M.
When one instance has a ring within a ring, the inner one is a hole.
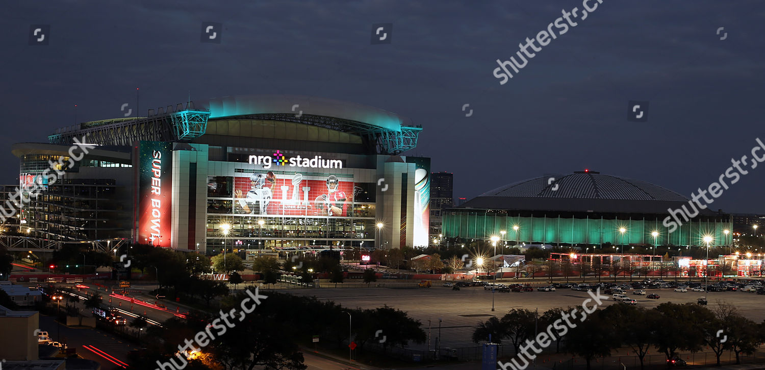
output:
M427 245L430 159L400 155L422 131L405 122L356 103L265 95L64 127L12 147L31 195L20 231L243 257ZM49 183L50 163L67 162L83 136L96 147Z

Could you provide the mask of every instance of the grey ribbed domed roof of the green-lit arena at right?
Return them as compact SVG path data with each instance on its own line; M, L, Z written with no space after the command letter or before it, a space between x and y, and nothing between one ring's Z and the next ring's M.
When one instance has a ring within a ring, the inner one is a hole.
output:
M666 214L668 208L688 208L687 203L688 198L659 185L581 171L503 185L465 202L461 208Z

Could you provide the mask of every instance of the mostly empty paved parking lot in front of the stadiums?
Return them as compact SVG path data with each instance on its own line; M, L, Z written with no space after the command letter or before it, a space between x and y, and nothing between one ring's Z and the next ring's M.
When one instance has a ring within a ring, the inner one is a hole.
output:
M471 342L470 336L475 325L490 316L501 317L513 308L539 309L541 315L545 310L554 307L581 306L582 302L589 297L587 292L571 289L558 289L555 292L534 290L522 293L492 293L491 290L484 290L483 287L461 287L461 290L452 290L451 287L441 287L442 283L433 281L433 287L430 288L419 288L417 282L412 281L411 284L401 284L400 287L288 290L288 293L316 296L320 300L333 300L351 308L372 309L387 305L401 309L409 313L410 317L423 323L426 334L428 319L430 319L431 349L435 348L435 338L438 336L438 319L442 319L441 348L474 346L476 344ZM535 283L539 286L540 282ZM666 302L696 303L698 297L705 296L705 293L692 292L690 289L687 293L680 293L672 288L646 288L646 294L651 293L658 294L659 300L636 296L631 291L627 291L626 295L637 300L637 306L649 309ZM491 310L492 295L496 309L494 312ZM765 312L762 310L765 295L754 292L724 291L709 292L706 296L710 309L713 309L718 302L731 303L737 306L744 316L755 322L759 323L765 319ZM611 304L623 303L613 300L604 302L604 306ZM412 348L428 349L428 343L412 345Z

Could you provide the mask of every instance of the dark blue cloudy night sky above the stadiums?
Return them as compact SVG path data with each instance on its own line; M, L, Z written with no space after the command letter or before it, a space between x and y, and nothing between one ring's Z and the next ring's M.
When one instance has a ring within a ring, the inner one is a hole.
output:
M189 94L389 110L423 126L405 154L454 172L455 198L585 168L689 197L765 141L765 2L603 0L503 85L496 60L581 1L224 3L4 2L0 182L18 181L11 144L47 142L75 104L77 122L135 112L136 87L142 116ZM203 22L222 24L220 44L201 42ZM371 44L379 23L390 44ZM29 44L31 25L50 25L49 44ZM649 102L646 122L627 120L630 100ZM765 163L709 208L765 213L763 179Z

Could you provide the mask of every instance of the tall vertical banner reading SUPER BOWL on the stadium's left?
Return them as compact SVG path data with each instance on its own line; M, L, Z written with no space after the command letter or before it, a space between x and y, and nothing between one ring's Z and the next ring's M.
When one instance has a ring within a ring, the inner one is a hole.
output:
M170 247L172 148L169 142L138 143L138 242Z

